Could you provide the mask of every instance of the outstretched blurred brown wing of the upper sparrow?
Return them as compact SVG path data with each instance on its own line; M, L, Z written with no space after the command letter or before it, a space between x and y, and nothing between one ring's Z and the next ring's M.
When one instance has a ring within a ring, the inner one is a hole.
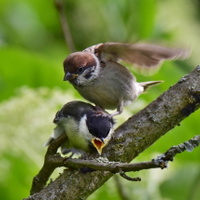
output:
M185 59L187 49L168 48L147 43L107 42L88 47L86 51L95 53L101 61L125 61L139 67L151 69L158 67L163 60Z

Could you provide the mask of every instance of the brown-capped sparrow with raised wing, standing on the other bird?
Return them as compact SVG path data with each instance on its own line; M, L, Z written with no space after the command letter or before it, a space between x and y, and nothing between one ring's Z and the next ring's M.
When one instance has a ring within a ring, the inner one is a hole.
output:
M64 81L69 81L86 100L100 109L122 113L150 86L162 81L137 82L120 61L144 72L157 70L163 60L185 59L188 50L148 43L107 42L71 53L63 62Z

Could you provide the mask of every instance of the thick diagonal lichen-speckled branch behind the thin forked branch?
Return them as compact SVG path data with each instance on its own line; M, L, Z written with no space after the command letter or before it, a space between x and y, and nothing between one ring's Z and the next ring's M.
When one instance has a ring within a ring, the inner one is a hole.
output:
M103 157L107 157L109 161L129 163L197 110L200 107L199 77L200 67L198 66L145 109L129 118L116 129L112 140L104 149ZM69 162L69 159L66 162ZM157 164L155 161L153 163ZM70 168L27 200L86 199L112 175L113 173L108 171L83 174L79 170Z

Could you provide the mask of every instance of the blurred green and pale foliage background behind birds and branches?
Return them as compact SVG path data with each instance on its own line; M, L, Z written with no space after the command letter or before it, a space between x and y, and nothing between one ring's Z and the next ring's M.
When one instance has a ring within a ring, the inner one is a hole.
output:
M107 42L148 41L192 50L186 61L165 62L153 76L164 80L139 97L118 117L120 124L199 64L198 0L64 0L76 50ZM65 44L54 1L0 0L0 199L22 199L43 163L43 144L61 106L82 99L63 82ZM83 99L82 99L83 100ZM200 111L181 122L134 162L148 161L169 147L199 134ZM178 155L166 170L129 173L142 182L121 180L129 199L200 199L200 149ZM111 179L89 200L120 199Z

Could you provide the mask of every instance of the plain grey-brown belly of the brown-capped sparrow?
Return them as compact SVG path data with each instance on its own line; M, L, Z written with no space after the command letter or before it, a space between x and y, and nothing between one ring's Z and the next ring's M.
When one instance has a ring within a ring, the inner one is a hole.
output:
M116 109L121 103L128 105L136 98L134 87L133 75L116 63L114 68L106 66L90 85L75 86L85 99L104 109Z

